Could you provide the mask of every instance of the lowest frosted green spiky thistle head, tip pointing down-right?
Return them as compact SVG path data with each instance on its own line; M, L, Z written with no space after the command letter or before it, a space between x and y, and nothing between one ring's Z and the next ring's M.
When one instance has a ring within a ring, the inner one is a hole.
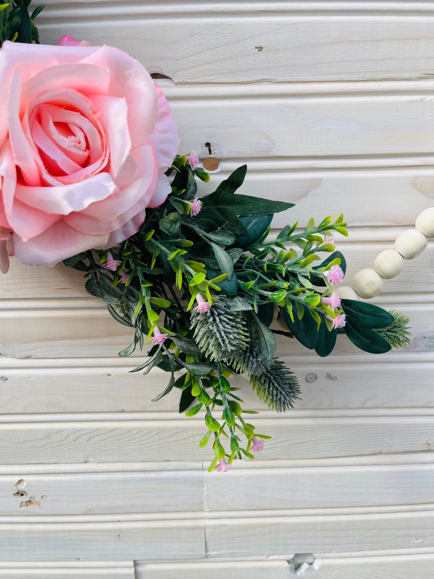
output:
M266 360L258 347L238 352L231 363L249 377L253 390L269 408L285 412L299 398L300 386L290 369L277 358Z

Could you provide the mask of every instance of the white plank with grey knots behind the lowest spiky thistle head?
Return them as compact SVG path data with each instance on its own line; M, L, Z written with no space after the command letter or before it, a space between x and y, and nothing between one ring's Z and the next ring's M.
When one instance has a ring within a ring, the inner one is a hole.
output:
M353 354L350 360L345 354L319 358L306 353L282 359L301 385L296 409L434 406L432 351L399 351L382 357ZM36 362L41 367L35 367ZM86 363L95 367L86 367ZM178 390L152 402L167 384L166 372L155 368L144 377L139 372L129 373L132 368L131 361L122 358L0 358L2 408L17 414L178 410ZM247 379L233 376L231 383L242 388L246 408L266 408Z

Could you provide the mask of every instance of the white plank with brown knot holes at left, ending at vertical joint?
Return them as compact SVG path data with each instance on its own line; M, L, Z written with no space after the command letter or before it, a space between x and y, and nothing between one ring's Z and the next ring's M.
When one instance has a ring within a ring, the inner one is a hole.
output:
M2 515L91 515L203 510L200 465L196 470L69 472L0 475ZM17 497L25 481L27 496ZM24 507L29 497L39 506ZM1 575L0 575L1 577Z

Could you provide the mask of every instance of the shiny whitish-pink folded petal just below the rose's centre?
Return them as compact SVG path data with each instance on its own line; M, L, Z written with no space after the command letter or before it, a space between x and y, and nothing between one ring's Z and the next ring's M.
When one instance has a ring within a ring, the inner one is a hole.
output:
M98 173L79 183L58 187L28 187L17 184L15 198L47 213L69 215L73 211L86 209L95 201L107 199L115 191L117 187L111 176L108 173Z

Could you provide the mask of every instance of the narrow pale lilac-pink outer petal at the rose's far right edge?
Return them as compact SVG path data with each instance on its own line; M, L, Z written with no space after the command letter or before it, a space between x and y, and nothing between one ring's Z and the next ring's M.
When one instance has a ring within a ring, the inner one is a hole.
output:
M149 137L157 152L159 177L171 166L179 147L178 131L173 120L169 104L158 85L155 85L158 95L157 122ZM156 207L156 206L155 206Z

